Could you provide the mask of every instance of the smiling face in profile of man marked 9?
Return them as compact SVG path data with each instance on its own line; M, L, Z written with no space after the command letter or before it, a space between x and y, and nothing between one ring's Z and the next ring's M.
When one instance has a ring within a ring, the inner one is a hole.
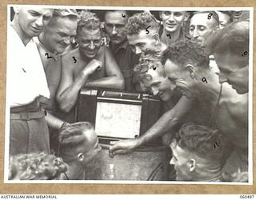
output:
M167 59L164 68L166 70L166 75L171 82L170 86L172 90L177 87L186 98L194 98L197 96L195 90L196 82L190 77L190 74L183 69L184 66L178 66Z

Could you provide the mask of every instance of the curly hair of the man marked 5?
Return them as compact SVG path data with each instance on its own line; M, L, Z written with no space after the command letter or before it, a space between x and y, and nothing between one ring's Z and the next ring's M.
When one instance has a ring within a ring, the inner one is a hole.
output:
M150 26L150 29L156 30L156 32L158 32L160 28L157 19L154 18L152 14L146 12L134 14L128 19L126 24L126 32L129 35L139 34L140 31L146 30L148 26Z

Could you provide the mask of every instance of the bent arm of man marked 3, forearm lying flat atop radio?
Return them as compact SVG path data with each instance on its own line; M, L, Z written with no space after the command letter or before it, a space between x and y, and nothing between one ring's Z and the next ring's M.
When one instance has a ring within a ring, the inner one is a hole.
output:
M108 48L104 50L104 57L107 77L88 81L86 86L123 90L125 88L125 81L122 77L122 72Z

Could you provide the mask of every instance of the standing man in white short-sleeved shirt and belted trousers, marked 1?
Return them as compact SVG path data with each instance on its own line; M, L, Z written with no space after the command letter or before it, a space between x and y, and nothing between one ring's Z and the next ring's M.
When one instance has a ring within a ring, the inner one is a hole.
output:
M50 98L46 75L33 37L50 22L53 10L15 7L8 28L7 103L10 106L10 155L50 153L49 132L40 102Z

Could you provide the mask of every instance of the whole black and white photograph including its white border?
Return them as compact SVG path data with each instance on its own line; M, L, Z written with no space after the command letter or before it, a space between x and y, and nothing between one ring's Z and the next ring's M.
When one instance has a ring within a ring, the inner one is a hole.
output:
M253 182L253 7L7 6L6 183Z

